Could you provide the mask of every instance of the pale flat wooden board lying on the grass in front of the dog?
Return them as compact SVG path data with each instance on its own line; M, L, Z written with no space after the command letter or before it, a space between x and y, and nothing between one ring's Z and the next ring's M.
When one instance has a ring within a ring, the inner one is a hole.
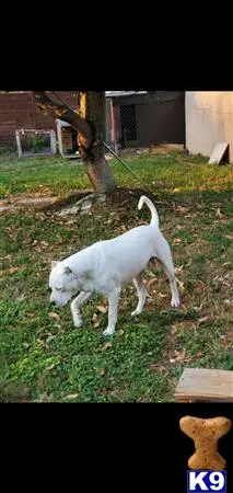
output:
M185 368L175 389L177 402L233 402L233 371Z

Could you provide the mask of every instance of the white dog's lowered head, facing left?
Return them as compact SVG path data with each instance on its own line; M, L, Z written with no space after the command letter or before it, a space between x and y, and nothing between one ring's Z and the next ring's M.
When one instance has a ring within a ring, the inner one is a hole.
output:
M51 262L49 275L50 302L65 307L79 290L78 278L66 262Z

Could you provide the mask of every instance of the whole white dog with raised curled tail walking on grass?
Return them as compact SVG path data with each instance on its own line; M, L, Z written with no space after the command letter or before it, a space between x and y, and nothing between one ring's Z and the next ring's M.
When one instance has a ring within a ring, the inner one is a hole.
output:
M82 325L80 306L93 293L108 298L108 325L104 335L115 332L118 301L121 286L133 282L138 294L138 306L131 313L141 313L147 298L150 298L142 280L142 271L152 257L156 257L165 270L172 291L172 307L178 307L179 296L175 280L171 249L159 228L159 216L152 202L142 195L138 203L151 210L151 223L139 226L113 240L98 241L91 246L65 259L53 262L49 276L50 302L63 307L78 293L71 302L71 313L75 326Z

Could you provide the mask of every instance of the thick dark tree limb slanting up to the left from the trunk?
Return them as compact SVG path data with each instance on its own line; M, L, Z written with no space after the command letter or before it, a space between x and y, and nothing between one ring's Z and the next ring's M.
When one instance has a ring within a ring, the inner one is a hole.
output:
M94 135L91 125L82 118L77 112L65 104L54 103L45 93L45 91L33 91L37 107L53 118L60 118L69 123L85 138L86 149L91 148Z

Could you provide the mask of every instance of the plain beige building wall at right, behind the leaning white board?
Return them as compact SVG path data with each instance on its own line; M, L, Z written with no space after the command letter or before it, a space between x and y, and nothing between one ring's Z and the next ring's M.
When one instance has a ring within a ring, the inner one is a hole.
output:
M218 142L229 142L233 162L233 92L193 91L185 94L186 147L210 157Z

